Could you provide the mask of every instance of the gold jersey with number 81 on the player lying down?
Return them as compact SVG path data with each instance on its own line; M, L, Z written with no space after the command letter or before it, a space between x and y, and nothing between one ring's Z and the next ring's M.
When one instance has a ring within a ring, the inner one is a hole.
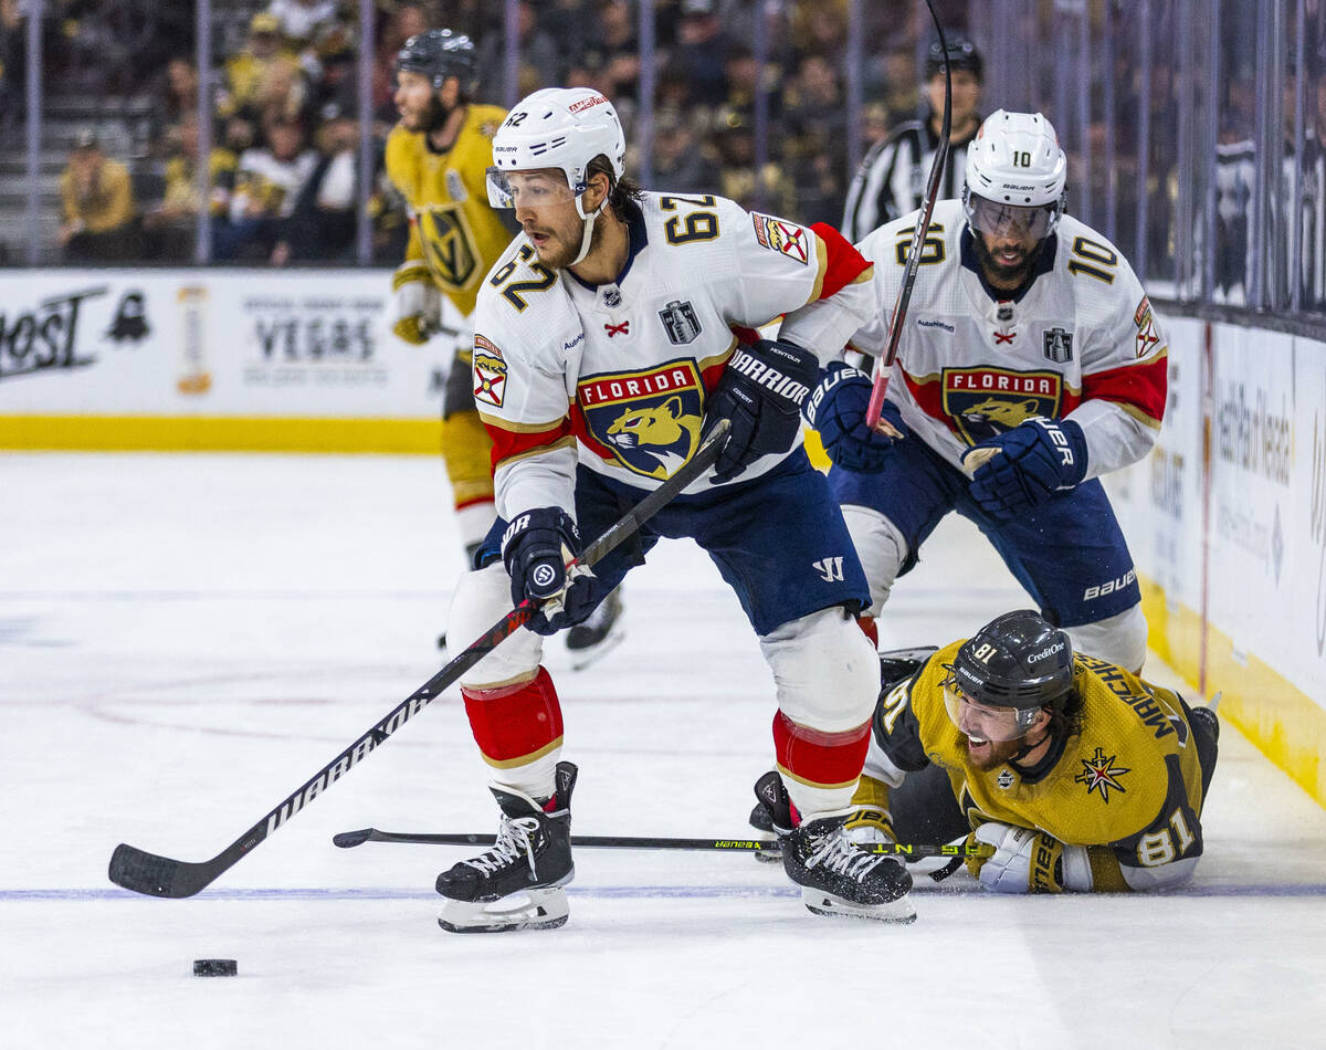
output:
M1093 890L1144 890L1187 876L1201 855L1203 780L1187 712L1170 689L1078 654L1073 684L1083 697L1082 732L1036 770L972 768L963 733L944 709L945 664L961 642L939 650L880 697L869 776L892 786L939 765L971 826L1032 827L1090 847ZM1172 867L1167 867L1172 866Z

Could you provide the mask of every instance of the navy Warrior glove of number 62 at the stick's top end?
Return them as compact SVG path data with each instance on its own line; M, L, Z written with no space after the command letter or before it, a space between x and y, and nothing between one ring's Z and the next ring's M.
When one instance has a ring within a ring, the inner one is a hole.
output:
M792 448L818 369L813 353L782 339L737 347L705 410L707 420L732 420L715 481L729 481L760 456Z

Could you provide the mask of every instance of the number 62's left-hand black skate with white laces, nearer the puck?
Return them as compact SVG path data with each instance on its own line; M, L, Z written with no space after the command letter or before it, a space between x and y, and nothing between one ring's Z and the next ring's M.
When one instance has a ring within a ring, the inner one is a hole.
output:
M497 842L438 876L438 892L447 898L438 925L451 933L500 933L553 929L566 921L562 887L575 876L570 810L575 773L572 762L557 764L550 810L518 791L491 789L503 811Z

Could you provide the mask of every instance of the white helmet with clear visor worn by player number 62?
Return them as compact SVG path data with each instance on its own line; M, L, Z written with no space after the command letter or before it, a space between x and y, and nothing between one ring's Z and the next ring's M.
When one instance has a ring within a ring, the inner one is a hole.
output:
M614 180L621 179L626 135L613 103L593 88L544 88L517 102L493 135L488 203L514 207L508 171L561 168L578 208L589 163L599 155L607 158Z

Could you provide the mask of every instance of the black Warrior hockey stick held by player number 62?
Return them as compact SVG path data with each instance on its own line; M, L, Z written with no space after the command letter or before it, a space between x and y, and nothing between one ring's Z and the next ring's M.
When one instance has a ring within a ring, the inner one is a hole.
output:
M719 420L695 455L687 460L662 485L648 493L635 506L626 512L607 532L590 544L574 565L593 566L609 552L634 536L654 514L678 496L687 485L699 479L713 465L723 448L731 424ZM411 717L438 699L438 695L453 685L461 675L492 652L501 642L529 622L538 606L530 601L521 602L477 638L469 648L443 667L436 675L396 704L391 712L375 723L349 748L328 762L322 769L304 782L292 795L276 806L261 821L221 850L211 860L192 863L172 860L168 856L145 852L134 846L121 843L110 858L110 880L135 894L160 898L194 896L210 886L221 872L229 870L263 839L281 827L294 814L328 790L335 781L349 773L359 761L404 725Z

